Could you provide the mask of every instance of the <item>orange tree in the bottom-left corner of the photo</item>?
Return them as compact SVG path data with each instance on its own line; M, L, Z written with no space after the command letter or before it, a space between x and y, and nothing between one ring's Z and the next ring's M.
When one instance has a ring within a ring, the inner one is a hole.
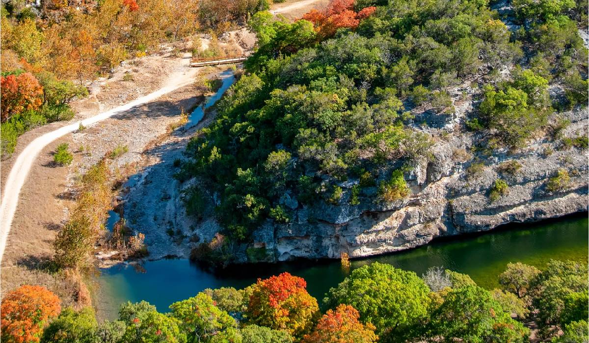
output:
M48 319L61 311L57 295L41 286L24 285L2 299L2 342L38 342Z

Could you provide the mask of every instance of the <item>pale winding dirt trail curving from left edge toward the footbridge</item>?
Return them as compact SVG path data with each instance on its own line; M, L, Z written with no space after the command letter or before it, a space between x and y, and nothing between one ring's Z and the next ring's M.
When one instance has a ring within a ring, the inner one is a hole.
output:
M4 249L6 247L6 242L8 241L8 234L10 233L12 219L14 218L16 206L18 205L21 188L25 184L25 181L27 181L27 176L31 169L32 163L39 155L39 152L45 148L45 146L47 146L52 141L55 141L55 139L58 139L59 137L67 135L70 132L74 132L80 128L80 124L84 126L90 126L104 119L108 119L115 114L128 111L135 106L154 101L155 99L160 98L162 95L168 94L169 92L172 92L178 88L191 84L191 82L194 82L194 75L196 75L197 70L198 68L190 68L188 70L183 68L181 71L172 74L166 83L166 86L158 89L155 92L141 96L140 98L128 102L125 105L121 105L112 108L109 111L83 119L82 121L76 121L73 124L62 126L59 129L35 138L31 143L29 143L29 145L27 145L27 147L22 150L21 154L18 155L18 158L16 158L14 165L12 165L10 174L6 179L5 188L2 189L4 194L2 195L0 211L0 261L4 255Z

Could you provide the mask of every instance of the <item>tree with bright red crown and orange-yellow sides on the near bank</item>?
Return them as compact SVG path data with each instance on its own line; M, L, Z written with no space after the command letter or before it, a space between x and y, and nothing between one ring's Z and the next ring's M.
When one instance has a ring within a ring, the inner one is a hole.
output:
M319 314L317 300L306 290L305 279L287 272L253 285L247 316L253 324L284 329L294 337L309 332Z

